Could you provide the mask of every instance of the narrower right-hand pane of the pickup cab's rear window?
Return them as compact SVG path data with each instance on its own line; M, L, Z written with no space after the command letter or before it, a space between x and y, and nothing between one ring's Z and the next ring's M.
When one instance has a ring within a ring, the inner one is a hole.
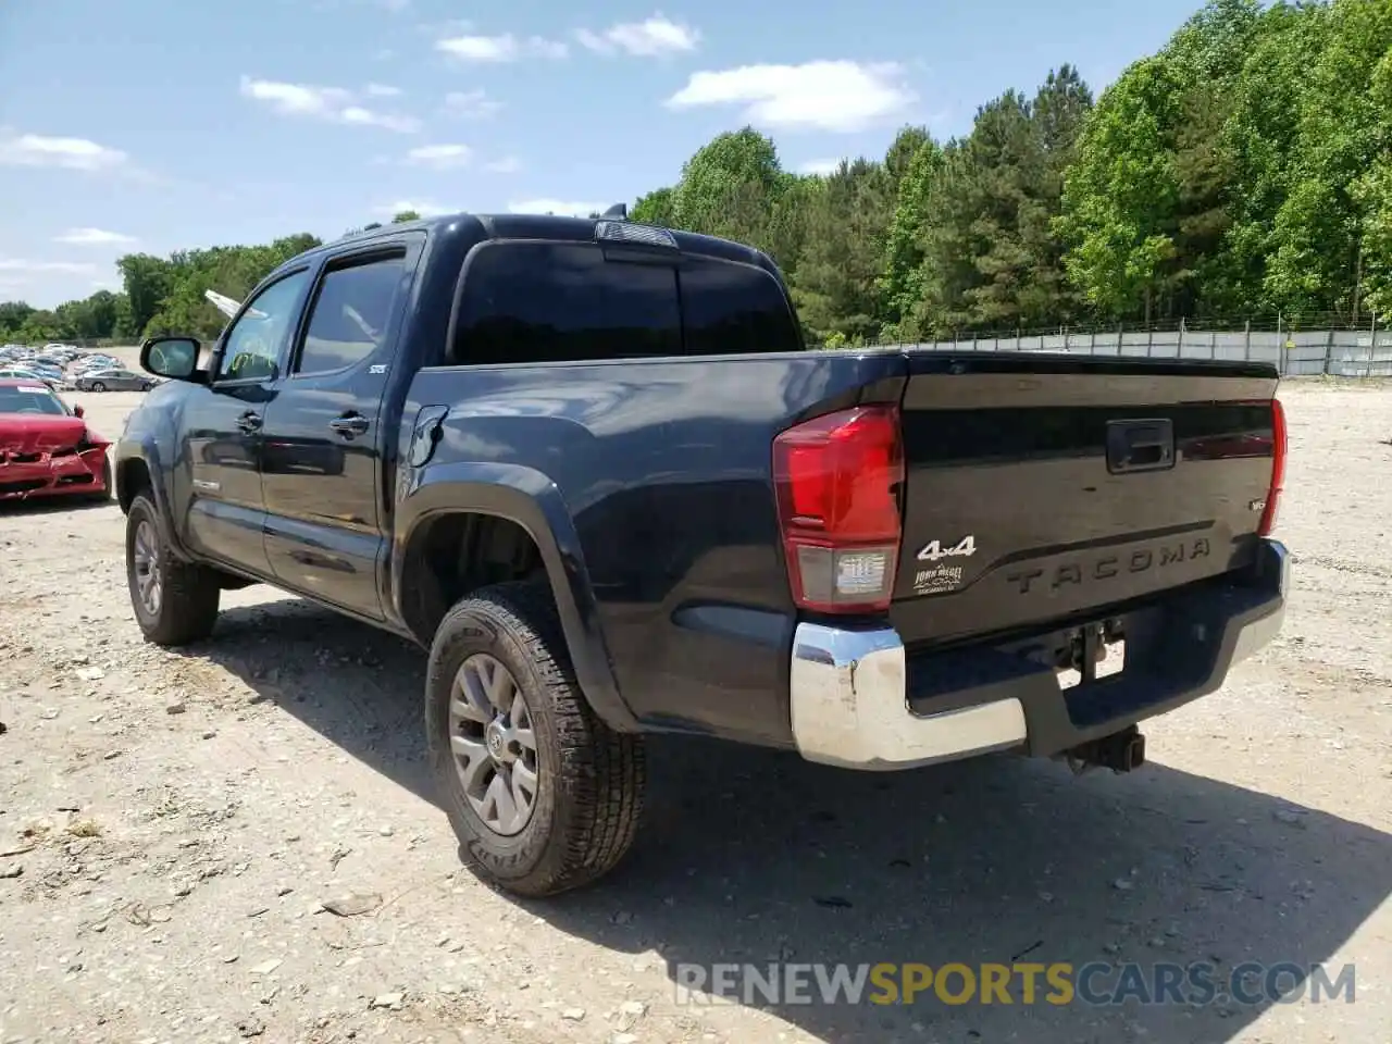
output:
M806 345L778 283L763 269L693 259L682 264L690 355L798 352Z

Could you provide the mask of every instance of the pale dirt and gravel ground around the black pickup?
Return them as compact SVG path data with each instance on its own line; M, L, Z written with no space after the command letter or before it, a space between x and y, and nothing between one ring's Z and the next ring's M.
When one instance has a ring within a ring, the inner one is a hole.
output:
M139 397L82 398L114 436ZM1283 636L1151 722L1146 770L664 741L631 860L551 903L461 869L420 653L258 587L160 651L114 505L0 509L0 1041L1392 1040L1392 390L1285 398ZM322 909L354 892L381 903ZM1353 962L1356 1001L675 1001L678 962L1026 954Z

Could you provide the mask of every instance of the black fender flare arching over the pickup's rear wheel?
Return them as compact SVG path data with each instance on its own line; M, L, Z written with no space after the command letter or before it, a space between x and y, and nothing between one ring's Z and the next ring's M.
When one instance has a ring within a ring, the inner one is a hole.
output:
M434 515L477 512L522 526L541 551L575 677L590 707L617 732L636 732L610 664L599 606L580 539L561 490L533 468L514 464L438 464L413 476L397 503L391 546L391 601L402 612L405 555L416 528Z

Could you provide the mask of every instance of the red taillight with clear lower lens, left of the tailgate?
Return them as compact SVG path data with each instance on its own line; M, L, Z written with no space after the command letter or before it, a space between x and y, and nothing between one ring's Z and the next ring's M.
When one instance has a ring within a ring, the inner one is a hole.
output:
M855 406L791 427L774 438L773 464L793 601L887 610L901 540L898 408Z

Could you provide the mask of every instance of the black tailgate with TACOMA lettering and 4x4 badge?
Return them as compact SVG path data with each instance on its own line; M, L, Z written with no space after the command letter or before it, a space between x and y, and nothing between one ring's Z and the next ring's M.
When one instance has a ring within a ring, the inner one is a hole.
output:
M1270 367L909 352L906 644L1025 629L1247 565L1272 480Z

